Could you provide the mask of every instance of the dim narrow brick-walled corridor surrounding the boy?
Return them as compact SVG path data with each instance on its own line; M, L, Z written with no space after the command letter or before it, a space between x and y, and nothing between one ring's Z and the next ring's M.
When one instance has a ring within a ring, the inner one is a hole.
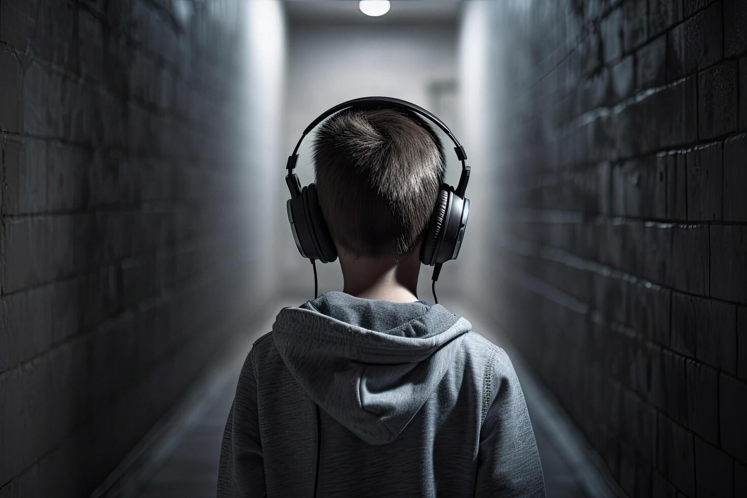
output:
M389 3L0 0L0 498L214 496L313 288L288 155L363 96L468 156L438 297L514 361L548 495L747 497L747 1Z

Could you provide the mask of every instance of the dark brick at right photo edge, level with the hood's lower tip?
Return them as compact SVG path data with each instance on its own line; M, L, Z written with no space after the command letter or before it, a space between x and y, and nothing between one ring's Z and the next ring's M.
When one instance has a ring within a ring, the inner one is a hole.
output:
M734 377L719 376L721 447L741 461L747 461L747 383Z

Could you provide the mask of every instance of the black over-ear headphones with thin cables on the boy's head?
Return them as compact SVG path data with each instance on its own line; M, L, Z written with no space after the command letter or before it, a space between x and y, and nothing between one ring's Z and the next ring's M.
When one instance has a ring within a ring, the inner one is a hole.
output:
M348 100L327 109L306 127L293 150L293 154L288 156L288 164L286 165L288 174L285 175L285 183L288 184L288 190L291 192L291 199L288 199L286 203L288 221L291 223L291 231L298 251L304 258L309 258L311 264L314 264L316 260L322 263L330 263L337 259L335 243L332 242L332 236L329 234L329 228L326 226L319 207L317 187L311 183L301 188L298 175L293 170L296 167L298 149L304 137L324 119L352 107L391 108L418 113L441 128L454 143L456 157L462 162L462 175L459 177L459 184L456 185L456 189L448 184L441 184L436 197L436 205L424 231L420 252L421 263L430 267L435 265L433 270L433 297L436 299L436 281L438 280L438 273L441 271L441 264L450 259L456 259L456 256L459 255L459 249L462 247L462 238L465 234L469 215L469 199L465 198L465 191L469 181L470 166L465 163L467 154L464 147L459 143L459 140L456 140L447 125L444 125L441 119L424 108L410 102L391 97L362 97ZM314 266L315 297L316 266ZM436 302L438 302L438 299L436 299Z

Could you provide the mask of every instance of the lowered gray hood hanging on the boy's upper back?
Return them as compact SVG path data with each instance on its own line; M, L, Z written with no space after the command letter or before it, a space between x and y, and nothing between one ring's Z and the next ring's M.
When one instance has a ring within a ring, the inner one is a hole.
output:
M273 338L309 397L363 441L394 441L436 389L471 324L441 305L322 294L283 308Z

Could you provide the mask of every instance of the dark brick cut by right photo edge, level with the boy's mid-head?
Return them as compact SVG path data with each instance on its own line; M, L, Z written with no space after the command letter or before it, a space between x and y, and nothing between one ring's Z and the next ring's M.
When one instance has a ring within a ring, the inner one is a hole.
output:
M747 74L746 74L747 77ZM747 135L729 137L724 142L724 220L747 221Z

